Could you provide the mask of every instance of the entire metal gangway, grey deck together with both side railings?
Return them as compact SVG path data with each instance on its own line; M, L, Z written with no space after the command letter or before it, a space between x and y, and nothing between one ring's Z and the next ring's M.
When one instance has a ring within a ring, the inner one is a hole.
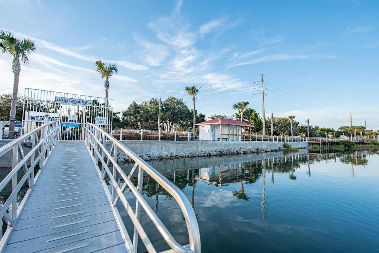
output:
M11 185L0 210L6 223L1 252L137 252L139 239L143 251L157 252L141 225L142 210L168 244L165 252L200 252L196 216L179 188L98 126L86 123L84 143L59 142L59 128L58 121L45 122L0 148L0 157L12 159L12 170L0 183L0 192ZM25 143L30 145L28 152L24 152ZM118 151L134 161L128 175L117 165ZM116 181L116 175L124 184ZM138 177L137 186L131 181L133 175ZM179 204L188 244L179 244L144 200L144 175ZM125 190L134 195L135 208L125 198ZM117 209L119 202L132 221L130 235Z

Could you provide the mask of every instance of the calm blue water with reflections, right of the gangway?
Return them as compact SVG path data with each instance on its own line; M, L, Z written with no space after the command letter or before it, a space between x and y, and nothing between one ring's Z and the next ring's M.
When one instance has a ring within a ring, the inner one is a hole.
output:
M278 152L152 165L193 205L203 252L379 251L379 157L373 152ZM175 239L187 244L171 196L147 176L143 195ZM131 226L126 212L121 215ZM141 223L157 250L168 249L144 212Z

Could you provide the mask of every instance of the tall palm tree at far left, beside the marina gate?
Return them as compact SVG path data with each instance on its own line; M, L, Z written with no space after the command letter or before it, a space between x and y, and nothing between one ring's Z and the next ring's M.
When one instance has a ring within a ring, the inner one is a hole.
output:
M13 56L12 72L13 94L11 102L11 111L9 113L9 133L8 138L14 139L14 121L16 120L17 93L19 90L19 75L21 71L21 61L25 64L29 62L28 55L36 50L34 42L30 39L18 39L12 33L0 30L0 49L3 53L9 53Z

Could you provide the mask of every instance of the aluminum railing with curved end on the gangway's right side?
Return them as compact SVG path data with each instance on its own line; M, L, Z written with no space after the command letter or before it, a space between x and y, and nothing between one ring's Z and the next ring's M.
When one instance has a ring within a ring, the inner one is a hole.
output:
M124 146L120 141L112 137L111 134L108 134L96 125L87 123L85 127L85 135L87 148L89 149L92 160L94 161L94 164L98 169L97 172L99 173L99 176L102 179L103 187L105 188L108 200L110 201L110 203L112 203L111 206L115 214L117 223L120 227L122 236L124 237L125 246L127 247L127 250L133 253L137 252L138 237L140 237L148 252L156 252L154 246L152 245L149 237L147 236L139 221L141 208L143 208L147 216L150 218L152 223L160 232L163 239L171 248L171 250L169 251L178 253L200 252L201 248L199 226L197 224L195 213L185 194L178 187L172 184L172 182L170 182L162 174L160 174L157 170L155 170L148 163L146 163L144 160L138 157L134 152L132 152L130 149ZM105 148L105 143L111 143L112 146L110 151L107 151L107 149ZM133 159L133 162L135 164L132 170L130 171L129 175L125 174L125 172L117 164L117 151L122 151ZM98 165L99 162L101 163L101 168ZM113 168L110 168L110 163L113 164ZM135 187L132 181L130 180L136 171L138 171L137 187ZM121 178L125 181L122 187L120 187L119 182L116 182L116 173L120 174ZM144 200L141 194L144 173L147 173L161 187L163 187L168 193L170 193L179 204L179 207L186 221L189 244L184 246L180 245L174 239L174 237L171 235L168 229L164 226L164 224L161 222L161 220L158 218L155 212L151 209L149 204L147 204L146 200ZM111 181L111 190L108 189L108 186L105 182L106 174L108 175ZM130 189L130 191L136 198L135 211L133 211L132 207L130 206L130 204L124 196L124 191L127 189L127 187L128 189ZM121 216L119 215L119 212L116 208L116 204L119 200L124 205L129 218L133 222L133 242L132 240L130 240L130 237L125 229L124 223L122 222Z

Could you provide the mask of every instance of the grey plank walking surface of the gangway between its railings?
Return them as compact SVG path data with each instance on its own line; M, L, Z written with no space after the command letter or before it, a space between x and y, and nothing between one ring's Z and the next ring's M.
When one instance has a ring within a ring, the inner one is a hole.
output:
M125 252L85 143L58 143L4 252Z

